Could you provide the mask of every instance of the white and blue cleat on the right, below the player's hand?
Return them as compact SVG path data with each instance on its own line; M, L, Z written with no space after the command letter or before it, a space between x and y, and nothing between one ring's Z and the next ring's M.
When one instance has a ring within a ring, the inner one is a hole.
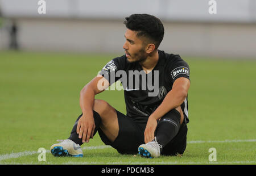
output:
M140 145L138 152L142 157L156 158L160 156L160 148L162 148L162 145L157 143L155 137L155 140L148 142L147 144Z

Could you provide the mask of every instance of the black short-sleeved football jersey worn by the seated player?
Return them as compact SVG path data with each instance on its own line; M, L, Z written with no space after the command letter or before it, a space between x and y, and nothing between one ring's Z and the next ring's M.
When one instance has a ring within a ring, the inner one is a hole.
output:
M100 72L108 79L110 85L118 80L121 81L125 95L126 115L135 121L147 121L150 114L172 89L177 78L189 79L189 66L179 55L168 54L160 50L158 53L158 63L148 74L143 71L139 62L129 62L125 55L113 58ZM148 84L149 82L151 84ZM181 104L181 109L188 123L187 98Z

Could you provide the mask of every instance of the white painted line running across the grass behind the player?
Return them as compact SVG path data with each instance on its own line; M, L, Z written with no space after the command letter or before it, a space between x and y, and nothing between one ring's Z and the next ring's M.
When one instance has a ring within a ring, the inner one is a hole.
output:
M256 142L256 139L248 139L248 140L223 140L223 141L187 141L188 144L199 144L199 143L252 143ZM105 149L111 148L109 145L97 145L97 146L84 146L82 149L84 150L94 150L94 149ZM46 150L49 153L49 150ZM2 154L0 155L0 161L8 160L10 158L19 158L23 156L30 156L32 154L38 153L37 151L24 151L18 153L10 153L10 154Z

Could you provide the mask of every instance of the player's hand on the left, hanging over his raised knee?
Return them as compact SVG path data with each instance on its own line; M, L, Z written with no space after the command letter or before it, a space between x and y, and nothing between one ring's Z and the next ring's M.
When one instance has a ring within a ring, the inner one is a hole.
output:
M82 114L81 118L77 123L76 132L79 134L79 138L82 138L82 143L89 143L89 139L93 138L93 133L95 129L95 123L93 119L93 114Z

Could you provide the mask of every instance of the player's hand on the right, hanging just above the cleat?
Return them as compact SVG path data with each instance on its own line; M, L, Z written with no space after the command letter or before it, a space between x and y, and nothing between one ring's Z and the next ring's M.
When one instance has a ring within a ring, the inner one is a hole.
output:
M156 129L157 125L158 125L158 122L156 121L156 119L153 118L152 116L150 116L147 120L147 125L146 125L145 131L144 131L145 144L154 140L155 129Z

